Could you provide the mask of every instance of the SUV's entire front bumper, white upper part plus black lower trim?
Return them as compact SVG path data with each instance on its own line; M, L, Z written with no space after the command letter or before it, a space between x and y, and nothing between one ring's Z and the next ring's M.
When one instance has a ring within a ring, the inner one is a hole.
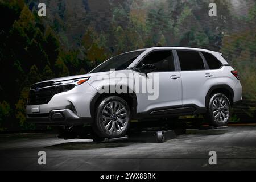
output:
M47 104L27 105L27 122L39 125L82 125L93 122L90 100L97 90L87 82L55 94Z

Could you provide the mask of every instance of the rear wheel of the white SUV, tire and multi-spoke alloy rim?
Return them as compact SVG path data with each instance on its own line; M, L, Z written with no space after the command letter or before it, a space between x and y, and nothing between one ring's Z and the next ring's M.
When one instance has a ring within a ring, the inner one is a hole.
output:
M210 126L225 126L231 116L231 105L228 97L222 93L210 96L207 113L204 118Z

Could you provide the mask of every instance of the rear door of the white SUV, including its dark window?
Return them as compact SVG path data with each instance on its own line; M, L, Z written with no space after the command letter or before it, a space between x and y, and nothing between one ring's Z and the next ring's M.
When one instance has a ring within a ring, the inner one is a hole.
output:
M205 107L205 96L215 84L214 72L208 69L201 52L177 50L182 80L183 105Z

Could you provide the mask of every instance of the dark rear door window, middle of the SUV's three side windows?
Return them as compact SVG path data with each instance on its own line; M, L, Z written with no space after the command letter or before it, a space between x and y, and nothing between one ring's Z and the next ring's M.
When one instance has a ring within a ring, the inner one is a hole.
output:
M179 51L177 54L180 60L181 71L200 70L204 68L204 61L197 51Z

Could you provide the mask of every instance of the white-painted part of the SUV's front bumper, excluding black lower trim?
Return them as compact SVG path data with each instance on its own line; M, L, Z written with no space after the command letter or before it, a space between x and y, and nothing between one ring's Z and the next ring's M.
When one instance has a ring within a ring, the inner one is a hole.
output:
M68 120L88 120L86 118L93 118L93 115L90 114L90 101L96 92L96 89L85 82L82 85L75 86L72 90L55 94L47 104L27 105L27 120L35 121L35 119L39 119L40 121L48 121L52 111L63 109L69 109L73 113L71 114L73 117L67 117ZM51 121L48 122L51 123Z

